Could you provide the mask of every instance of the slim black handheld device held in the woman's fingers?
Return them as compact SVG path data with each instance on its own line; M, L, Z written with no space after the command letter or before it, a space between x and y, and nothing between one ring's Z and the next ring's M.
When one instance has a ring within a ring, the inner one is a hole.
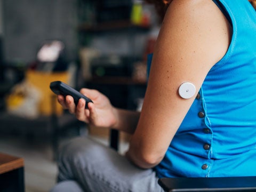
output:
M74 98L74 102L77 105L79 99L84 99L85 100L85 108L88 108L88 103L92 102L90 98L87 98L85 95L80 93L79 91L75 90L73 87L67 85L66 83L63 83L61 81L54 81L51 82L50 84L50 89L52 90L53 93L57 95L63 95L67 96L70 95Z

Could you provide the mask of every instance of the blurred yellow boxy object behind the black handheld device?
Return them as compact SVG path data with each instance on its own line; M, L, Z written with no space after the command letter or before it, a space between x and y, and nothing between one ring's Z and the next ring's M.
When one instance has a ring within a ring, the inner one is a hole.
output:
M57 96L50 90L50 83L53 81L62 81L68 84L68 72L45 73L28 70L26 81L34 85L42 93L41 101L39 102L39 113L41 115L62 114L62 106L58 103Z

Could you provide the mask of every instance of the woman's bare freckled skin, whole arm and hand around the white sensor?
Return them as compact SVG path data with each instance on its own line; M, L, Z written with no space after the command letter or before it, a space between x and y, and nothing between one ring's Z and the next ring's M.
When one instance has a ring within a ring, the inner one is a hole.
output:
M229 22L210 0L173 0L159 6L166 13L141 113L114 107L96 90L81 90L93 101L89 109L84 109L83 99L76 107L72 97L58 95L59 103L77 119L132 134L126 157L141 168L162 161L196 97L182 99L179 86L191 82L197 93L211 67L227 52L231 39Z

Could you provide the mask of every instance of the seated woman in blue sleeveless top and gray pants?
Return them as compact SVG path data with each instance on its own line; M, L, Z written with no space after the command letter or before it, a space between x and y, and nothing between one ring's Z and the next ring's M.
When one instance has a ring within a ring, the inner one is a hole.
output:
M256 175L255 10L245 0L150 2L165 14L141 113L95 90L81 90L89 109L58 95L77 119L131 133L129 150L71 141L53 191L161 191L161 177Z

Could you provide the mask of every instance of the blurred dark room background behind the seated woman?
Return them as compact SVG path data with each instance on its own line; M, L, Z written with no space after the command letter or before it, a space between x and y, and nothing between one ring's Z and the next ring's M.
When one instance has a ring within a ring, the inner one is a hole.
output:
M140 110L159 23L139 0L0 0L0 153L25 160L26 191L50 190L58 149L73 137L127 149L130 135L77 121L49 85L98 89Z

